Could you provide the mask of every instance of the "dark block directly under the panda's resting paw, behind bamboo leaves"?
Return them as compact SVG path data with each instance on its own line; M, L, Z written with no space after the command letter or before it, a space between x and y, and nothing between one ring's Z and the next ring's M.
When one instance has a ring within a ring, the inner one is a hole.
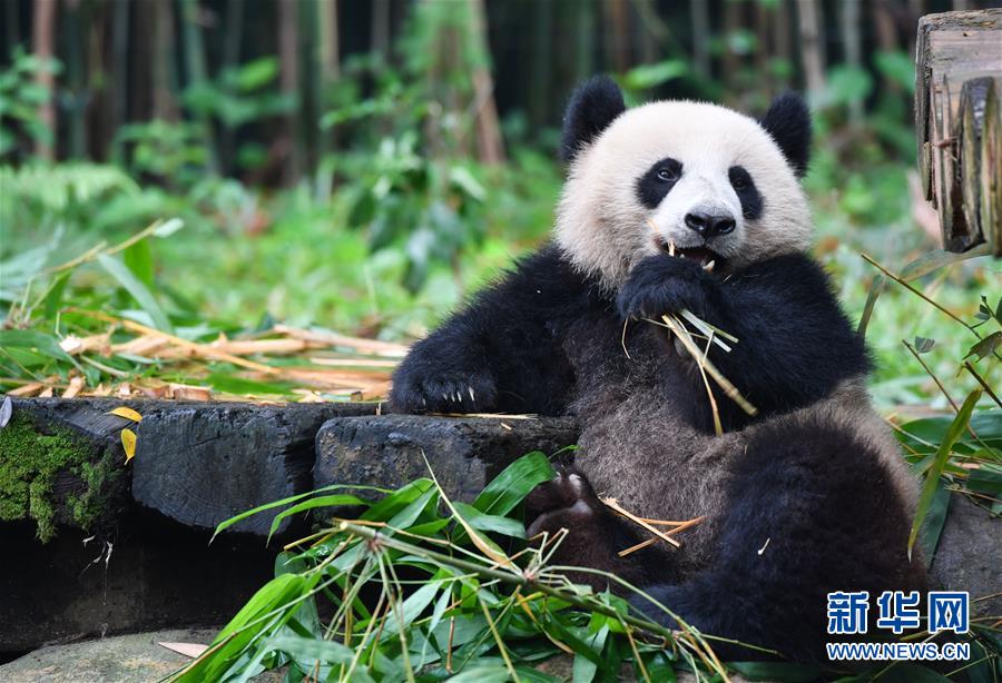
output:
M551 454L577 438L577 423L566 417L338 417L316 436L314 485L396 488L429 476L428 458L445 493L469 503L515 458Z

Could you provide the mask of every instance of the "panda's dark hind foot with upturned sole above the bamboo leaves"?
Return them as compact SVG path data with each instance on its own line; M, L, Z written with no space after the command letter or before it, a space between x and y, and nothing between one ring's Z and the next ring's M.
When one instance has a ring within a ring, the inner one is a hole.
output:
M537 486L525 499L525 518L531 519L528 535L537 543L544 534L552 538L560 529L567 529L549 565L599 570L638 586L649 584L655 575L665 575L664 571L651 572L651 567L665 567L667 558L660 550L644 548L619 556L620 551L642 537L599 501L584 475L573 467L559 468L552 481ZM599 574L571 571L568 576L596 591L623 593L619 584Z

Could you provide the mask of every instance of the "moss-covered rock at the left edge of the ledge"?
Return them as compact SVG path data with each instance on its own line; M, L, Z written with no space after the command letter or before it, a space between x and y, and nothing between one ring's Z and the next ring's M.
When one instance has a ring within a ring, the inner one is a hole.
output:
M0 428L0 521L31 519L49 541L57 524L94 531L125 486L114 448L16 410Z

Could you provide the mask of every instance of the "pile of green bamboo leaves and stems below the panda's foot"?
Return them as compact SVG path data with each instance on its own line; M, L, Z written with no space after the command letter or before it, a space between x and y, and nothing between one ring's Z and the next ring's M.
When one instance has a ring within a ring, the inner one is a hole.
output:
M320 513L323 505L363 509L357 523L325 526L281 554L275 578L174 680L288 666L293 679L556 681L534 666L561 650L573 654L580 681L622 669L647 680L666 680L677 665L705 672L700 653L708 645L688 626L679 639L623 600L570 584L547 566L548 552L490 541L499 532L524 537L519 504L552 476L548 458L532 453L472 505L450 502L432 475L377 502L296 496L247 513L297 502L283 514ZM665 641L674 646L665 649Z

